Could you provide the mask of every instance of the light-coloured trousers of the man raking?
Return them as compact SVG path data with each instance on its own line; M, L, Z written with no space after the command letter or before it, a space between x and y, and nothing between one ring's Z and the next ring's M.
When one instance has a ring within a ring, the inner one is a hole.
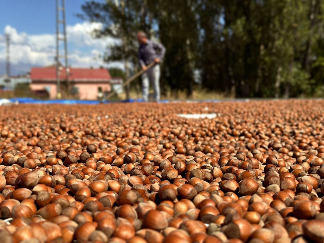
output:
M160 100L160 65L156 64L142 74L142 94L145 101L148 100L150 82L154 89L154 100Z

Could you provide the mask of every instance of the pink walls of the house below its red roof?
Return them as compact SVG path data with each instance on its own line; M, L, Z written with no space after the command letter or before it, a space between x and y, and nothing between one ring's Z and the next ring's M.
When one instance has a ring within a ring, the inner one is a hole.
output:
M56 98L56 84L55 83L31 83L31 90L42 90L49 88L50 99ZM98 87L101 87L102 92L111 91L110 83L76 83L74 87L79 90L80 99L97 99Z

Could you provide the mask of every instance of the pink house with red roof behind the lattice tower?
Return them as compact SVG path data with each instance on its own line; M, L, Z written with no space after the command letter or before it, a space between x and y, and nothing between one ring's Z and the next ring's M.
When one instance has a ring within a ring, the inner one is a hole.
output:
M80 99L93 100L108 93L112 85L120 85L121 78L112 78L105 68L69 68L68 79L73 94ZM60 68L60 80L67 78L65 68ZM33 91L47 90L51 99L56 98L56 66L33 67L30 71L30 88Z

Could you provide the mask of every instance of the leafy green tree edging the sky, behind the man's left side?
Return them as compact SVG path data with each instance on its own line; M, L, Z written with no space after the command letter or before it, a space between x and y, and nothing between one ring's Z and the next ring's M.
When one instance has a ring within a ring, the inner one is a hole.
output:
M140 0L87 1L82 6L83 14L79 14L83 19L103 24L103 28L95 32L96 37L110 36L120 40L119 44L109 46L109 52L103 58L106 62L124 63L124 80L137 71L136 33L139 29L149 28L147 11L142 3ZM129 86L126 94L130 98Z

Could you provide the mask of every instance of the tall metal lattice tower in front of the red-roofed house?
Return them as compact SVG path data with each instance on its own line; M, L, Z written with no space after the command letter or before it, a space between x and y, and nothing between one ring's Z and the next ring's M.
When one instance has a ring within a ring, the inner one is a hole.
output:
M69 66L67 62L67 42L66 42L66 21L65 21L65 1L56 0L56 86L57 98L61 98L60 93L60 41L64 41L64 61L65 61L65 74L67 82L67 90L69 91ZM60 20L60 11L62 12L63 20ZM60 24L63 24L63 33L60 33ZM63 35L63 37L62 37Z

